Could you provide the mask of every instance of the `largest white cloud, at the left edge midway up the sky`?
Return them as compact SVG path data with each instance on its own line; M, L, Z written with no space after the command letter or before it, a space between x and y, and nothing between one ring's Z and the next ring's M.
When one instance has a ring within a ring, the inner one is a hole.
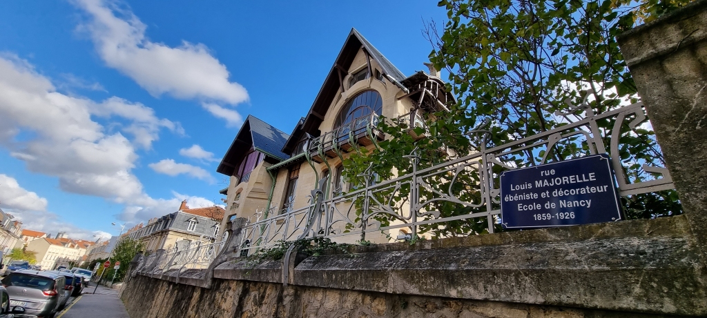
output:
M141 147L157 139L160 127L183 133L178 123L158 119L144 105L115 97L94 102L64 95L26 61L0 57L0 146L23 160L28 170L58 177L66 192L121 203L146 201L131 172L138 158L134 143L119 132L107 133L92 116L126 119L124 131L132 132Z

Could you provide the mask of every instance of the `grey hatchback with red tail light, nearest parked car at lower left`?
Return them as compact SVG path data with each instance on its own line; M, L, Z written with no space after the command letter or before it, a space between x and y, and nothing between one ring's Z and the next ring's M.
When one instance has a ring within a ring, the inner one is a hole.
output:
M66 278L55 273L24 269L2 279L11 306L21 306L30 317L53 318L68 299L64 292Z

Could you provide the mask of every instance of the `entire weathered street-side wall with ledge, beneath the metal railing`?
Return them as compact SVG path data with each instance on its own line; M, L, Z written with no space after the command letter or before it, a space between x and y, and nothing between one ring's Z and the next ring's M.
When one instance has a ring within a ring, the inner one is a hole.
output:
M123 299L134 318L172 317L185 303L214 317L703 316L707 275L689 232L675 216L358 247L293 258L287 286L281 262L235 259L216 266L210 290L198 272L138 275Z

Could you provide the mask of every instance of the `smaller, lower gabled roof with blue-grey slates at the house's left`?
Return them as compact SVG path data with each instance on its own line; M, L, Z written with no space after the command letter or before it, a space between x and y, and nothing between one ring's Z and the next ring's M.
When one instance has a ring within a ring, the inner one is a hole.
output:
M248 115L243 126L240 127L240 131L235 135L233 143L226 151L226 155L223 155L216 172L223 175L233 175L235 165L238 165L240 158L243 158L243 155L251 147L273 158L275 162L286 160L290 158L290 155L283 153L282 148L289 137L280 129L276 129L255 116Z

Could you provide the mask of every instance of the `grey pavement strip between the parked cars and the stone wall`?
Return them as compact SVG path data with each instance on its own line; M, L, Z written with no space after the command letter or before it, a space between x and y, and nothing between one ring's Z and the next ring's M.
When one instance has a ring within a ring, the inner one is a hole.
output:
M129 318L118 298L118 290L99 285L93 294L93 288L95 285L84 289L81 296L57 314L57 318Z

